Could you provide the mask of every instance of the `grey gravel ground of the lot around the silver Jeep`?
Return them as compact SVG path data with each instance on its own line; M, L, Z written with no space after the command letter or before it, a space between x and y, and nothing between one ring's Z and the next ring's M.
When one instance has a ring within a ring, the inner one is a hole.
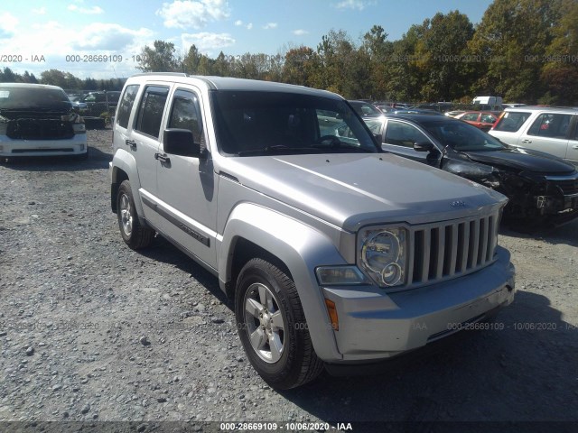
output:
M578 428L578 221L502 230L517 298L496 329L380 374L323 373L275 392L248 364L210 273L158 237L142 253L123 243L109 205L112 133L88 134L88 161L0 164L0 420Z

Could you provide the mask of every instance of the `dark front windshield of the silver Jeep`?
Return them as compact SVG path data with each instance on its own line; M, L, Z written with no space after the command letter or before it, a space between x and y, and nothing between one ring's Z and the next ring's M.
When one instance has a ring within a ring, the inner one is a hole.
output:
M211 92L219 152L255 156L379 152L342 100L284 92ZM350 134L338 129L347 125Z

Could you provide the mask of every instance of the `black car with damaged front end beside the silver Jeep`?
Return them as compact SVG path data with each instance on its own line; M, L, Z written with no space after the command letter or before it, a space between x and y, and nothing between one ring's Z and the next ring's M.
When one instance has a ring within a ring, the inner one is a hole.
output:
M385 151L508 196L509 219L534 226L578 217L578 172L553 155L508 146L471 124L437 115L387 115L370 129Z

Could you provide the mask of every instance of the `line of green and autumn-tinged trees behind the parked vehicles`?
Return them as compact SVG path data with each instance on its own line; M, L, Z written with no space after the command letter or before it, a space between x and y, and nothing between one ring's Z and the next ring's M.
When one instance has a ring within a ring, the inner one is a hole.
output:
M459 11L438 13L397 41L388 41L376 24L357 41L331 30L314 48L284 47L276 55L221 51L211 58L195 45L179 54L172 42L154 41L137 60L144 72L273 80L347 98L471 102L472 96L492 95L508 102L578 105L578 0L494 0L475 26ZM75 79L54 69L41 76L41 82L63 88ZM90 85L117 88L113 81Z

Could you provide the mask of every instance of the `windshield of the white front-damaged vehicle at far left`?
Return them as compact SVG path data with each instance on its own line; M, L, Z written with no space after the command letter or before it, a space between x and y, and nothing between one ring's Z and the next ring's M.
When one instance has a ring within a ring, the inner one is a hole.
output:
M59 88L0 88L0 109L7 110L67 110L69 98Z

